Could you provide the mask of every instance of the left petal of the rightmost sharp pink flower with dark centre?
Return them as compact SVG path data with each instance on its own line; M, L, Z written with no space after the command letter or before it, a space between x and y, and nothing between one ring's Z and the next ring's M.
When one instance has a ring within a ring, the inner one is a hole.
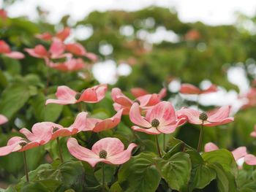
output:
M200 125L202 120L199 119L200 112L193 109L182 108L177 111L178 118L187 118L189 123Z

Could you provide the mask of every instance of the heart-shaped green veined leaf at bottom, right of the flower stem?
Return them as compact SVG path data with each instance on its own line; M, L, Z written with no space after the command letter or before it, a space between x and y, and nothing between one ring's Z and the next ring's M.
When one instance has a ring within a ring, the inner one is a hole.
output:
M185 191L189 183L191 161L186 153L176 153L169 159L157 158L157 169L169 187L178 191Z

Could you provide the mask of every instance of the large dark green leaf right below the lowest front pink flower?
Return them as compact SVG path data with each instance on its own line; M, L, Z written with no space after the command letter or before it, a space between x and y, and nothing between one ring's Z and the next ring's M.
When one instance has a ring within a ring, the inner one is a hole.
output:
M140 153L121 166L118 183L126 192L154 192L161 177L154 166L154 153Z

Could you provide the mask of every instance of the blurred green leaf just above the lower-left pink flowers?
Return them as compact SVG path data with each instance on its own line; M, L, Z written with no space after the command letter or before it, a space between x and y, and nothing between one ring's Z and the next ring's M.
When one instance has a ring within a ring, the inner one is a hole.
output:
M46 98L43 93L38 94L32 101L34 116L38 121L56 121L61 115L63 106L59 104L45 105Z

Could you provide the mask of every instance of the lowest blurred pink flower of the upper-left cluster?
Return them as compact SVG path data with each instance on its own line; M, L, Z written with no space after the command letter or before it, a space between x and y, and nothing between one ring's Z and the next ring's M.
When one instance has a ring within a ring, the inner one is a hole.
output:
M72 72L84 69L86 67L86 64L83 62L83 59L81 58L71 58L68 61L65 61L64 63L54 64L53 62L49 62L48 66L59 71Z

